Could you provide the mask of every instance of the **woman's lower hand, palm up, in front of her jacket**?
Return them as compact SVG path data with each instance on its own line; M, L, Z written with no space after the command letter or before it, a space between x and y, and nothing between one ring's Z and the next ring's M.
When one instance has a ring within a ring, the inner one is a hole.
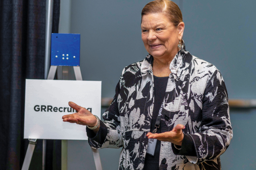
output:
M164 133L148 132L146 136L148 136L148 138L157 139L163 142L172 142L173 144L181 146L184 137L182 129L184 128L184 125L178 124L172 129L172 131Z

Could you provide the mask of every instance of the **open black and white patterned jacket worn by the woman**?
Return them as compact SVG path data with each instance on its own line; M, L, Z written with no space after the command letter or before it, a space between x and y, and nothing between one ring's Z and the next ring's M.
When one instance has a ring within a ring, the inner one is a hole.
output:
M107 136L103 144L89 139L96 149L123 147L119 170L143 170L154 107L152 63L149 54L123 69L116 95L101 122ZM172 60L170 70L161 132L185 125L183 133L192 137L197 156L175 155L170 142L161 142L160 170L220 170L219 156L233 136L221 73L209 62L192 56L185 45Z

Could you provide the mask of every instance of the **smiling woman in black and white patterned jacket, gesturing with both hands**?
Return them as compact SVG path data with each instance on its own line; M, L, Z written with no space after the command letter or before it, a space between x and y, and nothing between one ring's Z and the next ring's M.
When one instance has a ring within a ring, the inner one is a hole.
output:
M73 102L63 121L87 125L91 147L123 147L120 170L220 170L233 135L220 72L186 51L172 1L148 3L141 29L149 54L123 69L105 121Z

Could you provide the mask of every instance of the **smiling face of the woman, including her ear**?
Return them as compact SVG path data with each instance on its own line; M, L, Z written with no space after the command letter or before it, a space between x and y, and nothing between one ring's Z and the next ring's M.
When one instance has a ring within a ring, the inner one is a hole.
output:
M168 60L175 57L179 51L177 45L182 38L183 28L184 25L182 30L180 26L176 28L163 13L144 15L141 23L141 37L146 50L156 59Z

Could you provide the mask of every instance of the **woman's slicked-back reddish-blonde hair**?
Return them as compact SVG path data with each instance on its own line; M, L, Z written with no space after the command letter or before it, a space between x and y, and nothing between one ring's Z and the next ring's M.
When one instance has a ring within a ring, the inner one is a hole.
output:
M143 15L160 12L165 13L175 27L183 22L180 8L170 0L154 0L145 5L141 11L141 20Z

